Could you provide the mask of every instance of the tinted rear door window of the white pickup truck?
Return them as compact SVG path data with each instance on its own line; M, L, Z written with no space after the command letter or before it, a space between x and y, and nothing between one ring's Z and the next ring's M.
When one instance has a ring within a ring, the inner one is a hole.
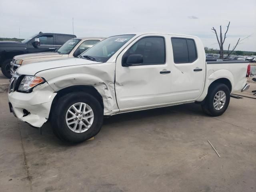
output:
M192 63L197 59L196 44L193 39L171 38L174 63Z

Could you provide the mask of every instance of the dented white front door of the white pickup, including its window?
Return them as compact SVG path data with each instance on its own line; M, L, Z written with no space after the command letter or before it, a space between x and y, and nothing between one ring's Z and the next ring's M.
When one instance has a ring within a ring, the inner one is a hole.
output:
M142 35L116 59L116 98L120 111L150 108L170 102L171 73L165 35ZM170 46L169 46L170 47ZM124 66L129 55L142 55L137 66Z

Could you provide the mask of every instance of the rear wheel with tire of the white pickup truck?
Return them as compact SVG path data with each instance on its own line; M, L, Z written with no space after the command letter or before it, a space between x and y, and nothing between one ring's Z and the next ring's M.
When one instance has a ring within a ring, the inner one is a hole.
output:
M202 110L210 116L220 116L228 108L230 102L230 90L221 83L212 83L208 90Z

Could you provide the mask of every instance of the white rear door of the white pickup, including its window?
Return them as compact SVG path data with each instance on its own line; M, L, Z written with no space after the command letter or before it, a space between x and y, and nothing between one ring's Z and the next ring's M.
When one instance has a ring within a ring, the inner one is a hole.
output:
M204 85L205 54L197 38L171 36L171 100L195 100Z

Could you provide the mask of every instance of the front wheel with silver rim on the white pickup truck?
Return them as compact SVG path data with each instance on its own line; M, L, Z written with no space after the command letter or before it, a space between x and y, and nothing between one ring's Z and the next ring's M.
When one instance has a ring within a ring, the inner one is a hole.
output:
M69 143L79 143L98 134L103 123L103 109L94 96L72 92L58 99L50 119L58 138Z

